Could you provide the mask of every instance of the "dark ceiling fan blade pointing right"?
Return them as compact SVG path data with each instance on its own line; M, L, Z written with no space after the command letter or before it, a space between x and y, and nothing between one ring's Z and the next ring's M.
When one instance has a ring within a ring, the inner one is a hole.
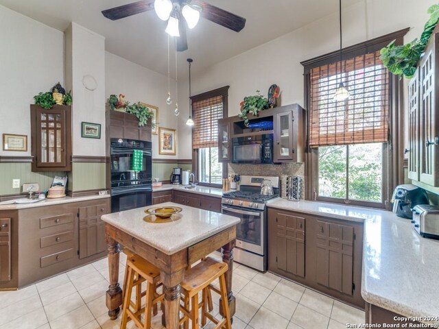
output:
M204 17L204 19L209 19L209 21L213 23L227 27L235 32L241 31L241 29L244 29L244 26L246 26L246 19L244 19L244 17L227 12L202 0L195 0L192 1L192 3L200 5L202 8L201 16Z

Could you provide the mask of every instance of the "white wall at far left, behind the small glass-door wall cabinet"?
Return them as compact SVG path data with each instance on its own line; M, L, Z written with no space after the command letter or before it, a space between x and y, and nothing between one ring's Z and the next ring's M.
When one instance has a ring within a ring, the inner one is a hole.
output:
M64 83L63 33L0 5L0 134L27 135L30 155L30 110L34 95ZM1 142L3 143L3 141Z

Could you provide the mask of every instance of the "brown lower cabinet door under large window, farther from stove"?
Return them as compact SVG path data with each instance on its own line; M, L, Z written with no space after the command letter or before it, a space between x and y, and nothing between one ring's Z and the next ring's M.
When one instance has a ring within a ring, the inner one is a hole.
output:
M316 280L346 295L353 294L353 226L317 221Z

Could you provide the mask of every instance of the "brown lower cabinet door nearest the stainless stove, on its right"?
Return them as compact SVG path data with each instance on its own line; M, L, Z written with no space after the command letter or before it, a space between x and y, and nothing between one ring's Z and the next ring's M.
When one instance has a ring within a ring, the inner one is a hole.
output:
M276 264L282 271L305 277L305 218L276 215Z

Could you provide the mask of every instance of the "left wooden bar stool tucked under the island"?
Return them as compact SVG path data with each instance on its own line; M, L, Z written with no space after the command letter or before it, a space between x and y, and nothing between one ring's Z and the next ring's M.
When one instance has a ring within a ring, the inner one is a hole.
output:
M157 288L161 286L160 270L138 255L126 260L127 274L126 285L123 287L123 307L121 329L126 329L128 321L143 329L151 328L152 313L157 314L157 303L163 301L165 295L158 294ZM141 291L141 284L146 282L146 291ZM132 302L132 289L136 287L135 302ZM141 305L141 298L145 297L145 306ZM145 313L142 323L141 315Z

